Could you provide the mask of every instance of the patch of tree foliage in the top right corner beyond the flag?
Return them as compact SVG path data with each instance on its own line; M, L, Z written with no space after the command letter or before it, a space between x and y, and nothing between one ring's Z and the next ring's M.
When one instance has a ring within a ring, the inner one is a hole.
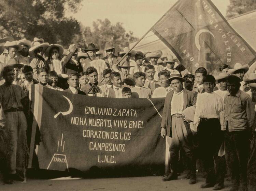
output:
M256 9L256 0L229 0L227 18L241 15Z

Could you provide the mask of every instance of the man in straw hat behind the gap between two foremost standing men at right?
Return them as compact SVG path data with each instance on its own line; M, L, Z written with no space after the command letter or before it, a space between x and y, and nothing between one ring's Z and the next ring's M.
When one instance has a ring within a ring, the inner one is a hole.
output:
M214 91L214 93L218 94L224 100L225 95L228 93L228 74L226 72L219 73L219 75L214 76L216 80L216 84L219 84L219 89Z

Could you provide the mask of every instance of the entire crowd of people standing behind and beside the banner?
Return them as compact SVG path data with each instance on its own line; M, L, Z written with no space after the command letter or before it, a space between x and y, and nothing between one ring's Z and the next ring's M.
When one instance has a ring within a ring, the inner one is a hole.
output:
M250 156L249 144L255 144L256 64L223 64L216 76L199 67L193 75L161 50L129 52L125 47L116 53L111 42L104 50L93 43L64 49L36 37L32 42L12 37L0 42L0 126L7 129L2 139L8 143L0 150L8 167L5 183L25 178L34 84L85 96L165 98L160 134L171 141L171 157L170 171L162 180L177 179L182 150L189 184L197 182L200 159L206 172L201 188L224 188L226 173L231 190L251 189L255 178L248 174L256 168L254 160L248 163L249 157L255 158L255 145Z

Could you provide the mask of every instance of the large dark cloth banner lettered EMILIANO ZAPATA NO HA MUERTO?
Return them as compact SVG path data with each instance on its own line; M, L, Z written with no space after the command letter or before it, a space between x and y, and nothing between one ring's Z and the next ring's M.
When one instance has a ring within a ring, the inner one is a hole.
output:
M164 99L97 98L41 87L33 97L41 169L163 172L165 140L159 133Z

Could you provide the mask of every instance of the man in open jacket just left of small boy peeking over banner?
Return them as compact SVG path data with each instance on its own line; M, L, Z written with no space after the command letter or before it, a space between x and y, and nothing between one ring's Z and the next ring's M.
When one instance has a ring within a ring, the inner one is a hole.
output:
M109 88L109 98L122 98L122 79L118 72L110 74L112 86Z

